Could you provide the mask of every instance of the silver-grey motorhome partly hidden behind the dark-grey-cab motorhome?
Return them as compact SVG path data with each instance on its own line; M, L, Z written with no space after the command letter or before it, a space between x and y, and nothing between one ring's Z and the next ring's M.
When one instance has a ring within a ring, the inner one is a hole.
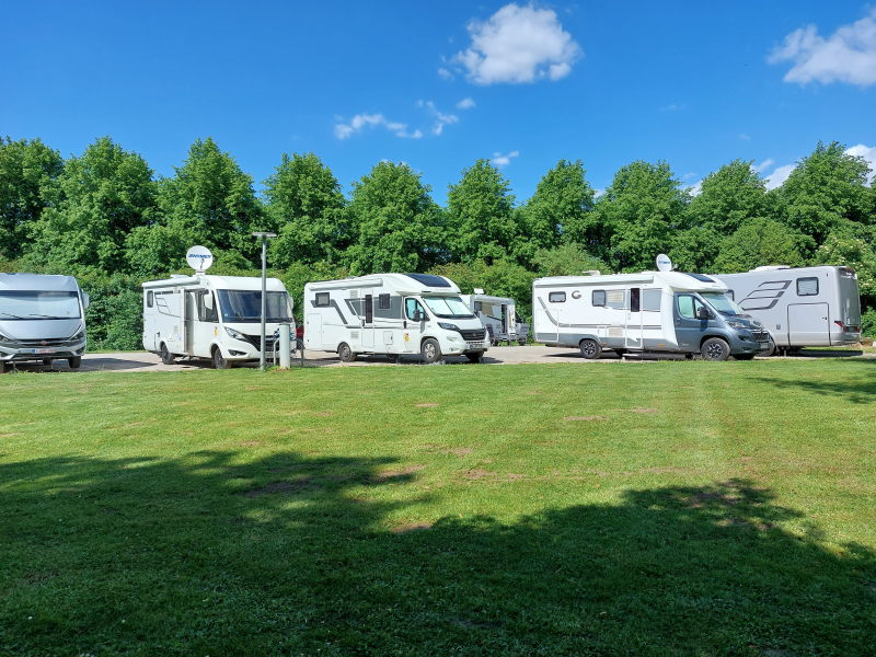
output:
M744 311L761 321L775 349L861 342L861 296L851 267L758 267L713 276Z

